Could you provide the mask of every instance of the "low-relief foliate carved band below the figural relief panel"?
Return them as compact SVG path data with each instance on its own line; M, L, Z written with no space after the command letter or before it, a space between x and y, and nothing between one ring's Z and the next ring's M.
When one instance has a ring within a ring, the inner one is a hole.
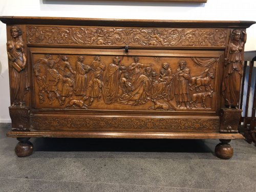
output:
M108 118L108 117L31 117L33 129L38 130L174 130L218 131L219 119L171 118Z

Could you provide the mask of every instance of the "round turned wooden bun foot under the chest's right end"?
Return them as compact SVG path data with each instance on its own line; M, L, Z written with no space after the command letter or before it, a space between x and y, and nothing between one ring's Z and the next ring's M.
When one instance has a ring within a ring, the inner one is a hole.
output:
M229 144L231 141L226 139L220 139L221 143L215 147L215 154L221 159L230 159L233 156L233 147Z

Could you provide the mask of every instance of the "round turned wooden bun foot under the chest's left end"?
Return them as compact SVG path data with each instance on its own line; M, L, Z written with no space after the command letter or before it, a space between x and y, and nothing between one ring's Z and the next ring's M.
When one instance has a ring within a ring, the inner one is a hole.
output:
M33 153L33 144L29 139L30 138L17 138L19 142L15 146L15 154L18 157L27 157Z

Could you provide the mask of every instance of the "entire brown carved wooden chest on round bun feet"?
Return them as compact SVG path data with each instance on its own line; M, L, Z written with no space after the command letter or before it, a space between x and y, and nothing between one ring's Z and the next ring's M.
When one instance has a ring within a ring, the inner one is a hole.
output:
M221 139L238 133L254 22L0 17L18 156L30 137Z

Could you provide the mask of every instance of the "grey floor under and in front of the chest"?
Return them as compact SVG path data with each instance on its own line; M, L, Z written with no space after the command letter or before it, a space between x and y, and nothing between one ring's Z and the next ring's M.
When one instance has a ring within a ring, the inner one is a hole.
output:
M256 191L256 147L218 140L32 138L34 153L14 154L0 123L0 191Z

